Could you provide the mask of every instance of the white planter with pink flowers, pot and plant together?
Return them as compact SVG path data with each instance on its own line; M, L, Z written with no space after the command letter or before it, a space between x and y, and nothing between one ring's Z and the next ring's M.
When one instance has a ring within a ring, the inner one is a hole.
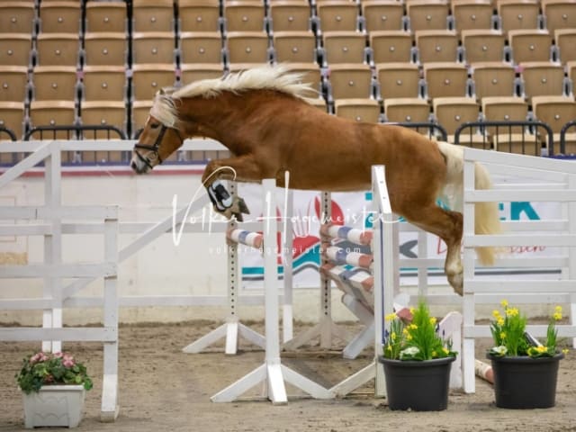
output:
M25 357L16 382L23 392L25 428L76 428L85 391L92 388L85 365L65 353Z

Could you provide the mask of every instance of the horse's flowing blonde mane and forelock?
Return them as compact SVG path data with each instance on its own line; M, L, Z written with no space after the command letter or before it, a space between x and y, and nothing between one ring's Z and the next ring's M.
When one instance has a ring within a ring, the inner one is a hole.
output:
M222 92L240 94L249 90L275 90L305 99L314 93L309 83L302 83L300 73L288 73L284 65L254 67L216 79L203 79L180 88L169 88L156 95L150 115L168 127L178 120L175 99L216 97Z

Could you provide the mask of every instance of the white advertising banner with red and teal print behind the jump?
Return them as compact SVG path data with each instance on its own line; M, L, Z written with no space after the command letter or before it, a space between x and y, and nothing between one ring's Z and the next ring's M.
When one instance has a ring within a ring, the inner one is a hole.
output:
M250 220L257 220L262 215L259 207L260 188L257 185L241 184L238 194L246 202L249 202L251 214ZM332 214L330 220L338 225L347 225L357 229L371 229L370 211L372 208L372 193L332 193ZM279 220L287 220L293 225L293 248L284 253L293 257L293 287L311 287L319 284L318 268L320 265L320 221L326 220L326 215L320 211L320 193L309 191L294 191L293 214L286 214L287 194L284 189L278 188L276 195ZM443 205L440 202L440 205ZM561 205L558 202L500 202L500 220L553 220L560 219ZM405 223L399 220L399 223ZM283 232L282 235L288 233ZM442 240L432 234L428 235L427 257L446 257L446 245ZM241 247L241 246L240 246ZM368 252L367 248L359 247L351 243L342 242L338 247L347 248L355 252ZM509 247L501 251L507 257L540 257L558 255L553 248L539 247ZM418 235L416 232L401 232L399 256L407 258L418 257ZM264 277L263 261L257 250L249 247L241 247L242 281L245 288L261 287ZM284 272L282 258L278 258L278 270ZM485 272L494 275L505 274L508 269L486 268ZM550 269L526 269L521 270L527 274L550 273ZM559 269L552 270L558 273ZM441 268L429 268L430 275L443 275ZM415 270L410 267L401 268L401 284L414 284ZM446 278L435 278L438 284L446 284Z

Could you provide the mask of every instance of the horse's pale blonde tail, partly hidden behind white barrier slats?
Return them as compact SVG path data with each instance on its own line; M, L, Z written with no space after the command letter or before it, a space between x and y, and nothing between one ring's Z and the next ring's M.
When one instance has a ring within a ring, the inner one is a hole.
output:
M446 157L446 187L443 193L452 210L462 211L464 196L464 149L444 141L438 141L440 152ZM490 174L485 166L474 165L476 189L490 189ZM500 232L500 215L497 202L477 202L474 211L474 232L476 234L497 234ZM477 247L476 254L484 266L492 266L496 251L494 247Z

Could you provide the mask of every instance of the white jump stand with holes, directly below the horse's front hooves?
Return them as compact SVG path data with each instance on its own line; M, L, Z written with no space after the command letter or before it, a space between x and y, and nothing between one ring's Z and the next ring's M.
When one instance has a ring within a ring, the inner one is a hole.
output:
M236 182L229 182L229 193L234 197L237 193ZM231 233L238 229L238 222L234 219L229 220L227 232ZM227 255L228 255L228 316L217 329L213 329L207 335L202 336L195 340L192 344L184 347L182 351L189 354L197 354L202 352L206 347L210 347L218 342L221 338L225 338L224 353L230 356L238 352L238 338L243 337L252 342L257 347L264 348L266 341L264 336L257 333L253 329L248 328L242 324L238 319L238 293L240 287L240 266L238 262L238 242L228 242Z

